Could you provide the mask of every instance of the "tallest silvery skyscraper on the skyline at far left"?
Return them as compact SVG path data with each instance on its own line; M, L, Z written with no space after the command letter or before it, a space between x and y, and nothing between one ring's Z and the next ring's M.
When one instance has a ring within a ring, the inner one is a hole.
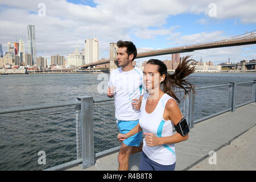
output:
M27 44L28 53L32 56L32 65L36 64L36 42L35 42L35 26L27 25Z

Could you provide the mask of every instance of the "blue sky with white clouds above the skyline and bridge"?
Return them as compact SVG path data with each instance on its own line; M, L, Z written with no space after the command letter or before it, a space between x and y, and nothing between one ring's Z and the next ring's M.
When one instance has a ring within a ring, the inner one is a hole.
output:
M0 44L20 38L27 52L27 24L36 30L37 56L67 55L84 40L98 38L100 58L109 43L130 40L138 48L161 49L223 40L256 30L255 0L0 0ZM256 45L181 53L217 65L256 59ZM155 58L171 60L171 55ZM49 62L49 60L48 60Z

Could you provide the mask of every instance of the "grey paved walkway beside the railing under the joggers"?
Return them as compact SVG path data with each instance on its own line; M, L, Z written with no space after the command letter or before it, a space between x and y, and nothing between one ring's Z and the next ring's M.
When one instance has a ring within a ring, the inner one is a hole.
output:
M239 107L236 111L196 123L189 139L175 144L175 170L256 170L256 102ZM216 164L209 164L216 151ZM116 171L118 152L96 159L95 166L86 171ZM131 155L129 170L137 171L141 152ZM64 170L64 169L63 169ZM80 171L80 166L66 168Z

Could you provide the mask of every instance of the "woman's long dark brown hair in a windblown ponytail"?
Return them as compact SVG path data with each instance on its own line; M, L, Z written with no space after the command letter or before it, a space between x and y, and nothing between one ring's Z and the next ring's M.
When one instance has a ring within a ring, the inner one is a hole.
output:
M158 59L150 59L147 61L147 64L158 65L158 72L161 76L163 74L166 75L164 81L161 82L161 84L163 84L163 92L173 97L178 104L180 104L180 100L175 95L175 88L183 89L184 97L189 94L189 89L193 90L195 93L195 85L184 79L188 75L191 75L193 72L195 72L195 67L189 67L193 62L195 62L195 60L189 59L189 57L190 56L182 57L182 60L180 58L180 63L173 74L167 72L166 64L164 64L163 61ZM192 63L189 64L191 61Z

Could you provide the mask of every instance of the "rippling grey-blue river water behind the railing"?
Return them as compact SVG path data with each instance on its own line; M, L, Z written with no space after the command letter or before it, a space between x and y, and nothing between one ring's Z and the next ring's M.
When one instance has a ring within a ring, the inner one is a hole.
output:
M108 74L109 75L109 74ZM94 100L108 98L98 93L100 74L1 75L0 110L59 104L80 96ZM256 73L194 73L190 81L197 86L252 81ZM251 84L237 86L237 102L250 100ZM228 88L197 92L195 119L228 107ZM240 103L240 104L241 104ZM208 107L206 107L207 105ZM183 107L183 102L181 102ZM0 169L41 170L75 160L76 106L57 107L0 115ZM119 143L113 101L94 104L94 148L103 151ZM39 151L46 152L46 165L39 165Z

